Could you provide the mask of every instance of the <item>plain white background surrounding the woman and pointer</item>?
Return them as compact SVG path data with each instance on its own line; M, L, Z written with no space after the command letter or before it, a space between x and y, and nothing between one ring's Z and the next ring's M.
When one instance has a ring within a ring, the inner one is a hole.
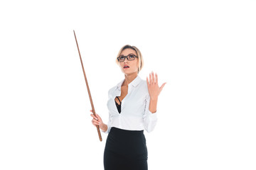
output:
M1 1L0 169L103 169L107 91L124 78L167 82L146 135L149 170L256 169L255 1Z

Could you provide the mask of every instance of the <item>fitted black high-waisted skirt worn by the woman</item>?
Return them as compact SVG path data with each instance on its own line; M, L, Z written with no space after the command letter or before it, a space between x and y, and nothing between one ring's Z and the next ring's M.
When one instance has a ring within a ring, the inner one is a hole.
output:
M147 159L143 130L111 128L104 152L105 170L147 170Z

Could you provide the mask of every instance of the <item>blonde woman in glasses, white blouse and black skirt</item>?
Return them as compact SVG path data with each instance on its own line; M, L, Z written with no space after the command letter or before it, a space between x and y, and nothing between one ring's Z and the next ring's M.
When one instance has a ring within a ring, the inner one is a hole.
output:
M109 122L106 125L100 115L91 114L92 124L109 133L104 152L105 170L146 170L148 157L143 132L154 130L157 99L166 83L159 88L154 72L146 81L138 76L144 62L137 47L124 45L116 62L124 79L108 91Z

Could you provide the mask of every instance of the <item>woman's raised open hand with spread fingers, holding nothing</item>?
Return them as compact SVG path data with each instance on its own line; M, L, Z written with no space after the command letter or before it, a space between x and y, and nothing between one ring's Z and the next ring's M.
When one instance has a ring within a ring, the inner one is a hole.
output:
M156 78L155 78L154 72L151 72L149 74L149 79L148 77L146 77L146 84L148 86L149 96L151 100L157 100L160 92L162 91L166 83L162 84L161 87L159 88L158 76L156 74Z

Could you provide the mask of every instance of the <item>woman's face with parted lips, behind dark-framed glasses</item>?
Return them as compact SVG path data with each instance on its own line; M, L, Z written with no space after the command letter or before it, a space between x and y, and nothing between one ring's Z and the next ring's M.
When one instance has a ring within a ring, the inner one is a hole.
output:
M122 50L119 56L122 56L122 55L127 56L131 54L137 56L137 52L135 50L132 50L131 48L127 48L125 50ZM128 67L125 67L125 66L128 66ZM132 61L128 61L127 58L125 58L124 62L119 62L119 67L124 74L132 74L134 72L138 72L138 58L135 57L135 59Z

